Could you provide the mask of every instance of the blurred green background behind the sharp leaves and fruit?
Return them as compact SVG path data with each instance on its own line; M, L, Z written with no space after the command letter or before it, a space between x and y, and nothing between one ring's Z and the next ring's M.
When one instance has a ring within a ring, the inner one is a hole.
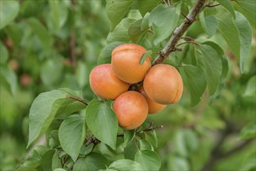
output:
M88 75L105 47L109 22L100 0L0 2L0 170L13 170L28 155L28 113L39 93L67 87L94 97ZM206 39L199 22L187 36ZM229 61L220 96L210 106L205 92L191 108L185 89L180 103L148 117L164 126L157 130L162 169L256 169L255 36L243 75L219 33L211 40Z

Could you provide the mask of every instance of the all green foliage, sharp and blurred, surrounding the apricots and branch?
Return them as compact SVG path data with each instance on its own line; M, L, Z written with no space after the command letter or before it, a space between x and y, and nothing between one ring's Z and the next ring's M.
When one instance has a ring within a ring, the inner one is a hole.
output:
M165 60L182 99L126 131L89 72L123 43L154 61L196 1L0 1L1 169L254 170L256 2L205 2Z

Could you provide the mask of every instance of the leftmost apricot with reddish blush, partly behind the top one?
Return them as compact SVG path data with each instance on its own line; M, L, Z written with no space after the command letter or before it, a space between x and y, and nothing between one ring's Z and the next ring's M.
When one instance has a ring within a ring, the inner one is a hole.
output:
M96 66L89 77L92 91L102 99L116 99L130 86L116 76L110 64Z

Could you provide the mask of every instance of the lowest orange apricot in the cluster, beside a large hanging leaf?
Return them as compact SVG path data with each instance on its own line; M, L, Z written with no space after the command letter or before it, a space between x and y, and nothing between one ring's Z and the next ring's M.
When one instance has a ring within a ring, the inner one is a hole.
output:
M148 116L148 103L140 92L123 92L113 103L119 126L126 130L139 127Z

